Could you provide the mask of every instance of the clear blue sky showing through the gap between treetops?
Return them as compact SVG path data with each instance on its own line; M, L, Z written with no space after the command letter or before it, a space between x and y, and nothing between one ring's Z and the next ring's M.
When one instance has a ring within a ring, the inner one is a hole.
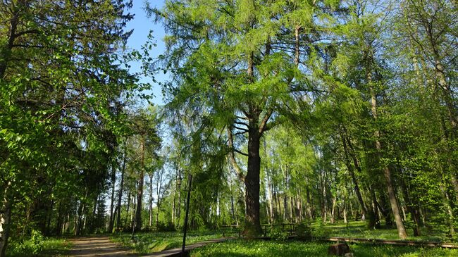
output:
M148 0L151 6L161 8L163 6L164 0ZM147 42L148 33L150 30L153 30L154 39L156 40L157 47L151 50L151 56L156 57L159 54L163 53L165 46L162 42L164 37L164 31L161 24L155 24L151 18L147 17L146 11L144 11L145 0L133 0L133 7L129 10L130 13L135 14L133 20L128 23L126 30L134 30L130 38L128 39L128 47L130 49L140 50L142 45ZM130 63L132 68L130 68L131 73L137 73L140 71L140 63ZM168 79L167 74L159 73L155 75L156 81L164 81ZM152 84L153 90L151 94L154 95L153 103L154 104L163 104L163 97L161 94L161 87L152 82L150 77L142 77L141 82L150 82Z

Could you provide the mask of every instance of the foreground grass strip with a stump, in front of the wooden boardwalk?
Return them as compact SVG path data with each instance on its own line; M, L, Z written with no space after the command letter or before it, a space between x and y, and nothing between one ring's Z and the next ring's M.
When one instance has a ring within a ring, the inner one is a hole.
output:
M231 240L228 242L209 244L194 249L192 257L202 256L326 256L328 246L332 243L295 242L295 241L259 241ZM458 256L457 249L422 249L410 246L372 246L369 244L351 244L350 249L357 257L384 256Z

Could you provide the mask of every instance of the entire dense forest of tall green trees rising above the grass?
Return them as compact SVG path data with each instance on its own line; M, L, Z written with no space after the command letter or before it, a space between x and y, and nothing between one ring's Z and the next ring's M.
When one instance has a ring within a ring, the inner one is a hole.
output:
M154 6L166 37L135 50L132 1L0 1L0 256L37 234L180 230L189 175L193 230L458 238L456 1Z

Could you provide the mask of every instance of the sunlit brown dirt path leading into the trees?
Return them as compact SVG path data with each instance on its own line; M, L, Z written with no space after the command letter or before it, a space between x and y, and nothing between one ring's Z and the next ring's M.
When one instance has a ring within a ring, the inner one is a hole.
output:
M94 256L135 256L132 251L110 241L108 237L80 237L70 239L72 249L69 256L94 257Z

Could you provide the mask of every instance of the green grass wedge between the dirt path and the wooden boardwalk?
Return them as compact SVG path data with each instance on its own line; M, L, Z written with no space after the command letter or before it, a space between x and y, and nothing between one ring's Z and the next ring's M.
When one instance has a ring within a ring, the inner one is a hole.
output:
M234 235L225 234L226 237ZM188 232L186 244L221 237L223 237L222 232ZM182 232L140 232L135 234L135 241L132 241L130 234L115 234L111 239L130 247L135 253L156 253L182 246Z

